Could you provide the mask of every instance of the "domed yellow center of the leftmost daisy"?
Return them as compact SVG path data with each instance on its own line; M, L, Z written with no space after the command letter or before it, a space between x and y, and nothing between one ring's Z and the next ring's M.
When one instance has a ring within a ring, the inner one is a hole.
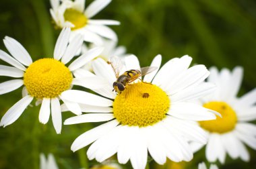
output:
M33 97L54 98L71 87L72 79L71 72L62 62L43 58L27 68L24 85Z

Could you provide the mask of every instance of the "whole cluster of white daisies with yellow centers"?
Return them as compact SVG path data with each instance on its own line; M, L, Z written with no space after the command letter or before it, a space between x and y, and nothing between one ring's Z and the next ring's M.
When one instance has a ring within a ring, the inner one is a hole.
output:
M161 66L160 54L141 68L137 56L117 47L117 35L106 26L119 21L92 19L108 3L95 0L85 8L85 0L51 0L51 16L62 31L49 58L33 62L18 41L4 38L9 54L0 50L0 59L11 66L0 65L0 75L15 79L2 82L0 94L23 89L0 126L18 120L36 100L40 123L51 115L58 134L63 111L75 114L65 125L103 122L71 145L73 152L90 145L89 160L104 163L117 154L119 164L130 160L143 169L149 157L161 165L166 159L189 162L206 145L209 162L224 164L226 154L249 161L245 144L256 150L256 125L249 123L256 119L256 90L236 97L243 68L207 70L191 66L187 55ZM49 164L43 155L40 159L41 168L57 168L52 155Z

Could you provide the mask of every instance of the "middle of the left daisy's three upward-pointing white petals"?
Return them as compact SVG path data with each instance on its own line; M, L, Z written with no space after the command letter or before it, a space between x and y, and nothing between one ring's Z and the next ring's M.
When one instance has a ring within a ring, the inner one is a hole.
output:
M84 42L84 37L80 34L77 34L75 38L71 40L69 43L69 46L67 46L67 49L65 50L65 53L63 54L63 57L61 58L61 62L63 64L67 64L75 54L77 54L77 51L79 48L82 47L82 44Z

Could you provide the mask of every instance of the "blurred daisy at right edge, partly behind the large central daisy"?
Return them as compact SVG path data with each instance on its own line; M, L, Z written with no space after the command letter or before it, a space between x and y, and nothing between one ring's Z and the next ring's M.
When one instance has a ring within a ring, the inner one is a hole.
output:
M209 162L220 160L223 164L228 154L232 159L241 158L249 161L247 146L256 150L256 125L249 123L256 119L256 89L236 97L243 78L243 68L237 66L232 72L223 68L218 72L216 67L210 68L208 82L216 84L216 91L200 99L201 105L207 109L218 111L222 118L214 121L201 121L199 125L207 131L205 155ZM195 152L203 147L192 143Z

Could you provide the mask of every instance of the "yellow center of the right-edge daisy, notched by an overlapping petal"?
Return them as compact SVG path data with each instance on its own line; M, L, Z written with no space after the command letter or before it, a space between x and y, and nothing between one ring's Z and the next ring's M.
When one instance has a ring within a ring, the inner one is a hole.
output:
M222 115L222 118L217 116L217 119L215 120L200 121L199 124L201 127L207 131L216 133L226 133L234 129L237 121L236 113L227 103L222 101L211 101L205 103L203 107L217 111Z

